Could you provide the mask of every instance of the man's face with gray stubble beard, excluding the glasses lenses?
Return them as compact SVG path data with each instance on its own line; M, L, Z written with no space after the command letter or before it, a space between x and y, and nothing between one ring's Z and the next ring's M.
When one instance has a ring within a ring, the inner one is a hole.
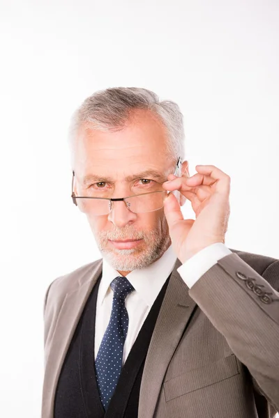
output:
M162 190L175 167L167 153L166 135L163 124L149 111L136 111L115 132L82 127L74 149L75 194L122 198ZM86 216L101 253L115 270L124 274L160 258L170 245L163 208L133 213L124 201L112 205L109 215Z

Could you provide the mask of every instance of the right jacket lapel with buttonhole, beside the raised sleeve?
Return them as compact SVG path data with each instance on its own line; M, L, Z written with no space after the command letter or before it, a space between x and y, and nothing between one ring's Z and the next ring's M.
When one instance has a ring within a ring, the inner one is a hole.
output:
M161 306L144 364L140 388L139 418L152 418L167 366L197 304L188 294L188 286L174 272Z

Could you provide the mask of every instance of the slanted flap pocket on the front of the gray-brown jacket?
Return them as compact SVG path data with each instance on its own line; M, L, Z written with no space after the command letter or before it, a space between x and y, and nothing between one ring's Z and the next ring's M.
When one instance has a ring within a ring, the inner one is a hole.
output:
M213 383L221 382L239 374L239 367L235 355L229 355L199 369L193 369L181 376L167 380L164 383L165 399L171 401L178 396L182 396L202 389Z

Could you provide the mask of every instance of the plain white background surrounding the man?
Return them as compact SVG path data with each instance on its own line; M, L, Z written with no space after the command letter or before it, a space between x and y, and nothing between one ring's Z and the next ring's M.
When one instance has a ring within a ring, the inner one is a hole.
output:
M66 143L94 91L142 86L178 102L190 174L215 164L232 178L227 246L279 258L279 3L0 5L0 415L38 418L45 290L99 257L70 201Z

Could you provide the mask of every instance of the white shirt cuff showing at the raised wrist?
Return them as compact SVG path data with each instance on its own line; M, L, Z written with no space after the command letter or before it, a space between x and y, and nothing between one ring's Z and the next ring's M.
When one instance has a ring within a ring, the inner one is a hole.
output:
M213 267L221 258L229 254L232 254L232 251L223 242L216 242L189 258L177 271L188 288L191 288L207 270Z

